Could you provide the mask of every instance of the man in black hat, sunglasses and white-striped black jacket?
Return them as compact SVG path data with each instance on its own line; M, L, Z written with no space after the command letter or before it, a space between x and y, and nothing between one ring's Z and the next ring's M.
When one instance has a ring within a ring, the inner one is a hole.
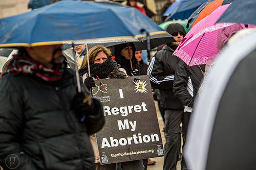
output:
M180 59L173 56L174 51L184 38L185 29L179 23L171 23L166 31L173 35L175 42L166 45L156 53L148 66L147 73L150 76L153 88L160 91L160 104L164 109L164 129L166 143L164 145L164 170L176 169L181 143L180 123L184 106L173 93L173 82L176 67Z

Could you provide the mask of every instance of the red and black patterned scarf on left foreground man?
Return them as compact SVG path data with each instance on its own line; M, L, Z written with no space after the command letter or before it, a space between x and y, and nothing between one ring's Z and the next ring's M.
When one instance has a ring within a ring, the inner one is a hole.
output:
M53 68L47 68L30 57L14 55L13 59L9 61L7 69L2 72L0 78L9 73L13 75L24 74L35 75L42 80L52 82L60 80L63 71L62 64L56 64Z

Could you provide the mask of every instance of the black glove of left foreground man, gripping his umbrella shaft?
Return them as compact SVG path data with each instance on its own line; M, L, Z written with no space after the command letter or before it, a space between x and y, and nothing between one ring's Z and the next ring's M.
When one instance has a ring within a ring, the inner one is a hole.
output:
M80 122L84 121L85 114L91 114L93 108L94 104L90 94L82 92L75 94L71 104L71 109L75 111Z

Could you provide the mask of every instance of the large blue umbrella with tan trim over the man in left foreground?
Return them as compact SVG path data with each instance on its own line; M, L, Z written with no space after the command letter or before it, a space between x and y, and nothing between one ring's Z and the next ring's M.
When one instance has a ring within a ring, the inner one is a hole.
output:
M135 8L95 2L60 1L0 19L0 47L39 46L82 40L122 41L167 34Z

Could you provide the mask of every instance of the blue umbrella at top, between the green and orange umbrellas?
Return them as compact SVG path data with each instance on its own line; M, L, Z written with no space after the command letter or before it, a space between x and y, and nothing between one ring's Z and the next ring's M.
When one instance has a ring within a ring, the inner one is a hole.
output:
M187 19L200 5L206 1L207 0L180 0L177 7L168 13L169 18L182 20ZM169 8L173 8L172 6L173 4Z

